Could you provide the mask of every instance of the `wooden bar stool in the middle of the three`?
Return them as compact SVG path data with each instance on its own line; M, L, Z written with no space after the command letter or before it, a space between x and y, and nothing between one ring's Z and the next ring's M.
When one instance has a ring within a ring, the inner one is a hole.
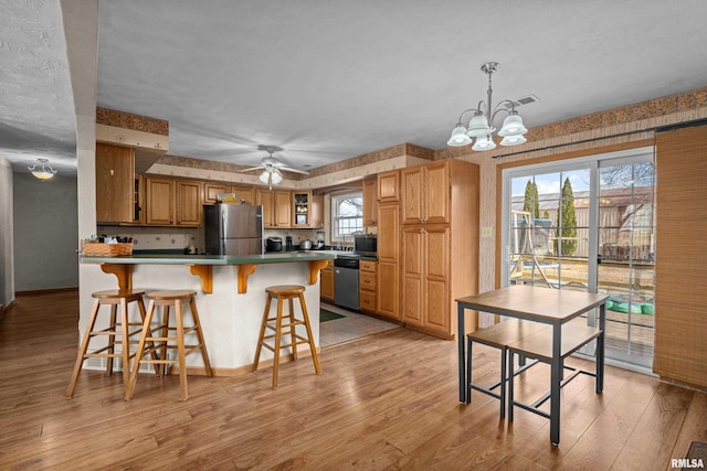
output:
M199 321L199 312L197 311L197 303L194 302L196 296L197 291L189 290L154 291L147 295L149 304L143 325L143 334L140 335L140 341L137 346L135 365L130 373L128 386L125 389L126 400L130 400L133 398L133 392L135 390L135 384L137 382L137 375L141 363L159 365L160 373L162 375L167 373L166 366L168 364L176 363L179 366L179 388L182 400L187 400L189 397L187 390L187 355L200 351L207 371L207 376L212 375L209 353L207 352L207 344L203 340L201 322ZM192 327L184 328L183 325L182 302L189 303L193 320ZM151 327L152 315L155 314L155 309L158 306L162 307L162 319L159 325ZM175 308L176 327L172 327L169 323L170 308ZM173 335L170 335L170 332L173 332ZM184 344L184 335L191 332L197 334L198 343ZM169 342L172 343L170 344ZM169 358L167 352L170 349L177 350L176 358ZM160 352L159 357L146 358L148 354L155 354L157 351Z

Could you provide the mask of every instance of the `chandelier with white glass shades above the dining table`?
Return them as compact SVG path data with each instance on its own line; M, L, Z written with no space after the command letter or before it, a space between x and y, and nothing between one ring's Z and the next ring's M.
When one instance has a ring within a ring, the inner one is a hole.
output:
M502 146L518 146L527 141L523 137L528 130L523 126L523 118L516 111L516 105L509 100L504 99L492 108L492 75L498 68L497 62L488 62L482 65L482 71L488 75L488 98L487 101L481 100L476 108L469 108L460 115L460 119L452 130L452 137L447 141L447 146L462 147L468 146L474 139L474 146L472 149L477 151L492 150L496 148L496 143L492 135L496 131L493 127L496 115L500 111L508 113L508 116L504 120L504 125L498 131L498 136L503 137L500 141ZM502 106L503 105L503 106ZM492 113L493 110L493 113ZM462 118L469 111L474 111L474 116L468 121L468 127L464 127Z

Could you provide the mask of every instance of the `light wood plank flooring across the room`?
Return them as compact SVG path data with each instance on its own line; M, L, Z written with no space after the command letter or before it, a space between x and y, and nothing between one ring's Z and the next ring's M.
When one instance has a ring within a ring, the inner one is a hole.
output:
M126 403L119 374L84 371L66 399L77 317L59 292L18 298L0 323L1 470L666 470L707 441L707 395L606 367L604 394L584 376L563 389L555 448L541 417L509 425L478 393L460 405L456 343L404 329L323 349L320 376L308 357L284 364L275 390L270 368L190 376L181 402L177 375L145 374ZM496 377L497 353L476 349L476 381ZM547 381L534 367L516 389Z

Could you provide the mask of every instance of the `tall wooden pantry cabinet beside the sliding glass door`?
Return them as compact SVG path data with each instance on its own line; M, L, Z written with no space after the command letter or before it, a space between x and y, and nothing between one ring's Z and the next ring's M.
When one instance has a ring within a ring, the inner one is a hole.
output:
M447 159L400 175L401 320L452 339L454 300L478 291L478 165Z

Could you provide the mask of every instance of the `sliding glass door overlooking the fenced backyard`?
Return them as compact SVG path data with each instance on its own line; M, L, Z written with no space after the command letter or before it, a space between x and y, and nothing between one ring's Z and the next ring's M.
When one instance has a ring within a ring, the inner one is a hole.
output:
M650 367L655 263L652 148L504 171L504 286L610 295L606 356ZM593 324L594 314L580 320Z

